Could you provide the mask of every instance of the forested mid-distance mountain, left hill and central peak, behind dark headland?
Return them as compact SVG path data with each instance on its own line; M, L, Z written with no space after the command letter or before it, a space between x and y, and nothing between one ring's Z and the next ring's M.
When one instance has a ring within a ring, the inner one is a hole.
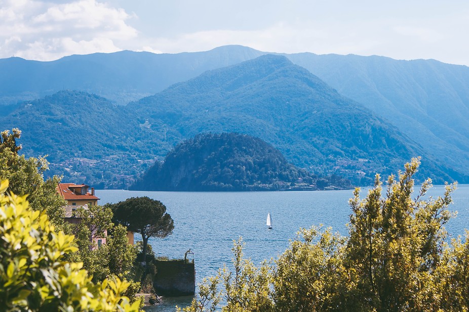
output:
M152 159L210 131L259 137L299 167L354 184L371 185L375 172L416 155L425 157L421 176L464 181L433 151L282 56L209 71L127 106L61 91L21 103L0 123L25 131L28 156L48 151L52 173L97 187L125 188Z

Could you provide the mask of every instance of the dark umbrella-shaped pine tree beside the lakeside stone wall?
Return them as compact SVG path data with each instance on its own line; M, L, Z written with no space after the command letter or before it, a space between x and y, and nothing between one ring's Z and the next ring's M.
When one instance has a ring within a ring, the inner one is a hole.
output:
M143 242L143 261L150 237L167 237L173 233L174 221L166 213L166 206L148 197L132 197L123 202L110 205L113 222L121 224L129 231L139 233Z

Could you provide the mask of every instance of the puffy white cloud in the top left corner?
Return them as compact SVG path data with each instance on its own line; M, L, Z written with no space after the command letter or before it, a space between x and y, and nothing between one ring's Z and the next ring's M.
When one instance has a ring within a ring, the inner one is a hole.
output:
M1 1L0 57L54 60L70 54L115 52L137 37L123 9L96 0L53 4Z

